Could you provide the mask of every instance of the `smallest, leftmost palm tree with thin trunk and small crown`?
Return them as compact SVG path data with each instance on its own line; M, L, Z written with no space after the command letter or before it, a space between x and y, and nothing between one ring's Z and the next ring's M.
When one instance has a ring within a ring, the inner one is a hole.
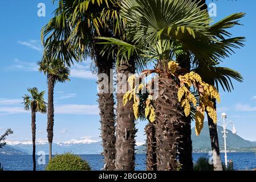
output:
M32 128L32 145L33 145L33 171L36 169L36 161L35 161L35 117L36 113L46 113L46 102L44 102L44 91L39 92L36 87L29 88L27 91L30 95L25 94L23 98L23 104L25 106L25 110L31 110L31 128Z

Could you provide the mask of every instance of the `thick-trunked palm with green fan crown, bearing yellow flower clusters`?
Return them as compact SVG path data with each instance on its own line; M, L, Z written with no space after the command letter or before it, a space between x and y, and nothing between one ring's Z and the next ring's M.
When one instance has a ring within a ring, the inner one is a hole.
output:
M169 75L168 61L173 60L177 48L189 57L190 64L209 65L227 57L230 48L243 38L218 39L218 32L237 24L243 14L229 16L229 24L221 21L218 26L209 26L206 11L192 1L125 1L121 12L127 17L127 37L132 43L113 38L105 44L119 46L122 55L140 53L157 62L155 72L159 73L159 94L155 101L156 152L158 170L177 169L177 149L181 126L184 125L183 110L177 100L178 83ZM182 8L181 8L182 7ZM159 13L160 12L160 13ZM173 16L175 15L175 16ZM234 21L234 22L233 22ZM160 23L161 22L161 23ZM216 30L218 29L218 30ZM191 160L190 156L190 160Z

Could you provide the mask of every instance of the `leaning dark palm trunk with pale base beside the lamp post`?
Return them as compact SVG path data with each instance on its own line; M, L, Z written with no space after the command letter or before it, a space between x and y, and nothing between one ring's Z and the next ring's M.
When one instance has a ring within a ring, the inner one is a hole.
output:
M216 108L216 100L213 100L214 107ZM207 113L207 112L206 112ZM213 119L207 113L208 117L208 126L210 131L210 142L212 146L213 152L213 167L214 171L222 171L222 163L221 163L221 155L220 155L220 147L218 142L218 131L217 125L213 123Z

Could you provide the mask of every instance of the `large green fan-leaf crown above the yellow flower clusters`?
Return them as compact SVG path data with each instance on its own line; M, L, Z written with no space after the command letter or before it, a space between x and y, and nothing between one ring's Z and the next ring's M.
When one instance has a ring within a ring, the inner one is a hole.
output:
M182 53L189 57L189 63L207 66L228 57L233 48L243 46L243 37L224 37L231 36L226 29L238 24L243 13L210 26L208 12L191 0L123 1L121 16L126 17L129 43L115 38L99 39L112 46L103 53L109 52L109 47L119 49L117 57L126 60L138 54L151 60L173 60Z

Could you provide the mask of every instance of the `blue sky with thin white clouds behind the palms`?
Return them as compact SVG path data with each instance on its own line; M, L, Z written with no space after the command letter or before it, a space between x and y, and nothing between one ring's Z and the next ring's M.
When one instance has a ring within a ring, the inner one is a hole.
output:
M45 3L46 17L39 17L38 3ZM208 1L208 4L212 1ZM255 7L254 0L213 1L217 4L220 20L231 13L244 12L241 20L245 26L230 30L234 36L246 36L246 46L235 55L225 59L222 66L242 73L243 83L234 81L235 90L221 93L218 116L225 111L235 123L238 135L248 140L256 140L256 74L255 74ZM36 61L42 57L40 30L52 16L54 6L51 1L1 1L0 2L0 133L11 127L12 141L31 140L30 113L23 110L22 96L27 88L38 87L47 90L46 77L37 72ZM91 61L75 64L71 68L71 81L56 84L54 142L75 140L100 140L100 117L97 109L96 76L91 73ZM36 115L37 140L47 140L46 115ZM144 126L138 122L137 142L144 142Z

